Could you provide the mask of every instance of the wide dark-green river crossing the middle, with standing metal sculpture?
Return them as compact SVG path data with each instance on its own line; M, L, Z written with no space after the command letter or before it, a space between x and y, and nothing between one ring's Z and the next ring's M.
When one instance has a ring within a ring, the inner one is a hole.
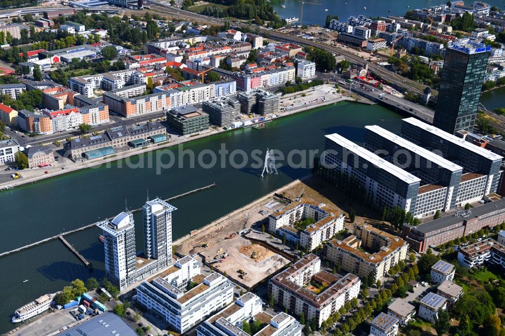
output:
M267 147L287 155L292 149L321 150L324 135L335 132L353 141L362 141L365 125L379 124L398 132L400 119L399 115L378 105L344 102L273 121L262 130L239 129L195 140L183 148L192 150L196 156L205 149L217 153L222 145L230 152L234 149L246 153L261 150L261 157ZM179 158L181 146L170 149L176 158ZM238 157L235 162L241 161ZM0 203L4 204L0 214L2 251L113 216L124 210L125 200L128 207L138 208L145 202L147 192L151 198L168 198L217 182L215 188L172 202L178 208L173 214L173 238L177 239L310 171L283 166L279 175L262 179L261 167L254 169L251 162L241 169L229 164L225 168L210 169L198 165L191 168L185 164L182 169L162 170L161 175L156 174L156 166L131 169L119 165L116 162L111 167L83 170L0 193ZM135 215L135 227L137 249L140 250L139 213ZM103 278L104 252L97 239L99 234L100 231L93 228L67 237L93 263L91 273L58 240L0 259L0 274L3 274L0 279L3 289L0 292L0 332L13 327L9 318L16 308L45 292L60 290L77 277ZM24 279L29 281L23 283Z

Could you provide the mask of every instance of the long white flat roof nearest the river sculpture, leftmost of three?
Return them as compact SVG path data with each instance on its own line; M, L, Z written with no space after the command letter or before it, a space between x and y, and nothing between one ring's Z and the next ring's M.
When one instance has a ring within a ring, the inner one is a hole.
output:
M408 184L421 182L421 179L402 170L401 168L395 166L394 164L382 159L378 155L372 153L365 148L358 146L354 142L344 138L340 134L334 133L325 135L325 137L333 142L336 142L340 146L346 148L347 150L352 151L356 155L363 157L365 160L369 161L373 165L377 166L379 169L382 169L394 176L398 179L407 182Z

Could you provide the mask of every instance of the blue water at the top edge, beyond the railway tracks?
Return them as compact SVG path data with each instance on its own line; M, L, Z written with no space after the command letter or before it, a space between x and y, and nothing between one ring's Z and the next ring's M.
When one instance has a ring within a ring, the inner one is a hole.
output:
M300 1L299 0L272 0L274 11L281 18L300 17ZM312 5L309 3L317 3L320 5ZM430 6L446 3L443 0L401 0L401 1L385 1L385 0L309 0L304 5L304 24L325 24L326 15L338 15L340 21L346 21L349 16L358 16L360 14L366 17L388 16L388 15L403 15L408 10L416 8L426 8ZM466 0L467 5L471 5L473 0ZM486 1L486 3L503 8L505 0ZM284 5L286 8L281 8ZM363 8L367 9L364 10ZM327 9L328 11L325 11Z

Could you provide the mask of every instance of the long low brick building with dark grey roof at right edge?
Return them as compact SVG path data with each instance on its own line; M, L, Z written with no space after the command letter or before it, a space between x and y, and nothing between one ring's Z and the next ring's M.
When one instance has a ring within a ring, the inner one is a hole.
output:
M428 248L468 236L480 229L491 229L505 220L505 201L489 202L454 215L428 221L423 225L403 225L401 237L418 253Z

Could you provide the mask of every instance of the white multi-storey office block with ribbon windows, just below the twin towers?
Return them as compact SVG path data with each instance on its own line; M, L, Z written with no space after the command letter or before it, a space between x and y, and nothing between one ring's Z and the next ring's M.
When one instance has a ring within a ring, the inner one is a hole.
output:
M190 287L189 284L196 286ZM170 328L185 333L233 302L235 286L223 275L200 273L200 265L186 256L163 273L137 287L137 301L162 316Z

